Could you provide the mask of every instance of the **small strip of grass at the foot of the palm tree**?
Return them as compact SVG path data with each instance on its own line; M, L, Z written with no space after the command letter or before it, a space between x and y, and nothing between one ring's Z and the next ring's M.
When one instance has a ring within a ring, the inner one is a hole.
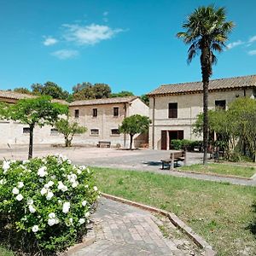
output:
M256 168L253 166L236 166L228 164L208 164L203 165L192 165L192 166L182 166L177 168L181 171L195 171L202 173L214 173L214 174L224 174L224 175L235 175L240 177L252 177L256 173Z

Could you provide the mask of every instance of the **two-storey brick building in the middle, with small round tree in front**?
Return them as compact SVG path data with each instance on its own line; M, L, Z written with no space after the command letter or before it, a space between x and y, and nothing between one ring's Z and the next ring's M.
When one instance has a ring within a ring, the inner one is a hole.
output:
M137 96L116 97L76 101L69 104L70 116L87 127L87 132L74 137L74 142L96 145L99 141L108 141L112 146L128 147L130 137L119 134L119 125L125 117L133 114L148 116L148 106ZM134 146L148 143L148 134L134 137Z

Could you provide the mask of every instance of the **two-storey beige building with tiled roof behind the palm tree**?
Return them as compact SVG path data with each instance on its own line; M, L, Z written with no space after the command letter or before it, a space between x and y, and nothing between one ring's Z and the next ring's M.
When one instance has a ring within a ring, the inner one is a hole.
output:
M192 132L196 116L203 112L201 82L161 85L148 96L149 148L170 149L172 139L202 139ZM256 75L211 80L208 108L227 108L243 96L255 98Z

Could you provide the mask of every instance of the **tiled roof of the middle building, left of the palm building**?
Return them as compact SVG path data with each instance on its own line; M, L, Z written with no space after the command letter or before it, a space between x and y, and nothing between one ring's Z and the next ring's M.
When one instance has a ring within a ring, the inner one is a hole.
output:
M137 96L127 97L115 97L106 99L84 100L71 102L69 106L89 106L89 105L102 105L102 104L117 104L117 103L129 103L137 99Z

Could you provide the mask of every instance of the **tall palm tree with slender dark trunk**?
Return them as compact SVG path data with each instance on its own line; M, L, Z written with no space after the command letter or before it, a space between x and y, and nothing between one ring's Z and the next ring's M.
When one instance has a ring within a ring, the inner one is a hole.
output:
M183 38L185 44L189 44L188 64L197 53L200 53L201 74L203 83L203 148L204 165L207 164L208 146L208 85L212 75L212 64L216 64L217 58L213 51L221 52L228 40L228 34L232 31L234 23L226 20L224 8L216 9L213 5L203 6L189 15L183 23L186 32L178 32L177 38Z

